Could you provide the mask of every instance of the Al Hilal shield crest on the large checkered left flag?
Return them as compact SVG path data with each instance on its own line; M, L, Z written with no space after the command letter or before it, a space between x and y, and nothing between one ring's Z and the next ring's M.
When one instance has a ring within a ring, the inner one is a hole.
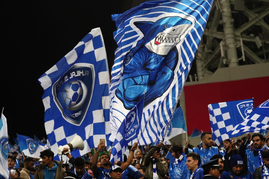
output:
M91 101L94 74L92 64L77 63L54 83L54 101L69 123L82 123Z

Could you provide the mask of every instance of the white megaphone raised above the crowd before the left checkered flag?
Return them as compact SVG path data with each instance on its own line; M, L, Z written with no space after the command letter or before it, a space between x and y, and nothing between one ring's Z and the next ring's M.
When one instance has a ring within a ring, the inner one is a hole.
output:
M68 152L63 152L64 148L68 148ZM84 149L84 142L82 141L82 138L79 135L76 135L70 143L65 144L64 146L60 145L58 148L58 154L59 155L67 154L73 151L73 149L79 149L81 151Z

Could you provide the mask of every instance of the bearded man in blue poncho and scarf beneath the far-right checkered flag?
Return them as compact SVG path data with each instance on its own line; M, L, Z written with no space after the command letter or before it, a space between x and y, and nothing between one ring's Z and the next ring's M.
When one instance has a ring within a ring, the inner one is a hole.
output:
M252 142L254 150L247 150L247 154L244 157L243 168L254 173L256 168L262 166L263 151L268 148L263 147L263 135L260 133L252 135Z

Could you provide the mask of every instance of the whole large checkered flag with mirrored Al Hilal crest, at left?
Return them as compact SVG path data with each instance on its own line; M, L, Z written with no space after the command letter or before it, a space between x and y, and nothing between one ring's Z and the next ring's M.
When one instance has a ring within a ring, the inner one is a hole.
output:
M97 147L100 138L111 145L109 73L100 28L91 30L38 81L44 88L45 129L54 155L75 135L84 141L83 151L71 152L75 158Z

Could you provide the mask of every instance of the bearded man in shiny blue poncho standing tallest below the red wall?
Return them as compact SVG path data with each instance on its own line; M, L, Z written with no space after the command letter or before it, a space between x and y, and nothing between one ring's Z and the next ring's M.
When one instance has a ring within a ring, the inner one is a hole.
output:
M193 148L192 151L198 153L201 157L201 164L207 162L213 155L219 154L217 147L212 147L213 140L212 140L212 133L211 132L203 132L201 134L201 140L203 145L201 148Z

